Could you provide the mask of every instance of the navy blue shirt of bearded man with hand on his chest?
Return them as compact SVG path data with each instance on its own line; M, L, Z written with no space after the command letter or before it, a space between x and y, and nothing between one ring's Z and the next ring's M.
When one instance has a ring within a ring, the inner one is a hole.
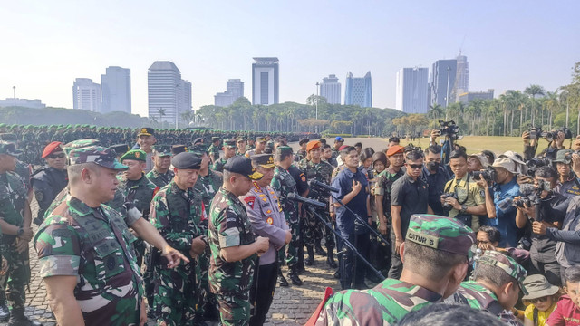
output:
M366 198L369 196L369 182L359 169L353 173L349 168L344 168L334 177L333 187L339 189L338 194L334 196L342 200L344 196L353 191L353 180L361 183L361 191L346 206L352 209L358 216L361 216L362 219L365 219L368 216L368 212L366 211ZM357 227L355 230L353 213L343 206L336 208L336 225L343 236L353 235L355 231L357 234L365 234L368 232L366 227Z

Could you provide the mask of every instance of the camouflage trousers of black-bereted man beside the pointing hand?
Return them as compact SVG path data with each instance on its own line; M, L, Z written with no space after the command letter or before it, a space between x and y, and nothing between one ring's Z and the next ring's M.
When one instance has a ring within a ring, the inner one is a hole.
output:
M195 325L199 299L195 264L184 262L173 269L155 266L153 306L158 324L165 321L168 326Z

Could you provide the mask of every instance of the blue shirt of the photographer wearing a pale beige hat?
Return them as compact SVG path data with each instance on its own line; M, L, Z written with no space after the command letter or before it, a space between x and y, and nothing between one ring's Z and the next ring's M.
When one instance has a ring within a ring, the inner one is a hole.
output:
M495 221L488 221L488 224L498 228L501 234L499 246L502 248L515 247L517 245L517 208L512 203L514 197L520 195L516 177L505 185L496 184L492 187L491 196L493 196L493 203L496 206L497 218L495 218Z

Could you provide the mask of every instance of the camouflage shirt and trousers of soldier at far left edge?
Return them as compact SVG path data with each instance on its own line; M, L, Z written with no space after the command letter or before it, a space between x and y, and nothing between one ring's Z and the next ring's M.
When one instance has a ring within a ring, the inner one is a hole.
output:
M28 206L27 191L22 178L14 172L0 174L0 218L9 225L24 225L24 208ZM0 277L5 285L5 295L13 310L23 310L24 285L30 282L28 250L18 253L15 235L2 235L0 251L8 263L8 271ZM7 278L7 281L6 281Z

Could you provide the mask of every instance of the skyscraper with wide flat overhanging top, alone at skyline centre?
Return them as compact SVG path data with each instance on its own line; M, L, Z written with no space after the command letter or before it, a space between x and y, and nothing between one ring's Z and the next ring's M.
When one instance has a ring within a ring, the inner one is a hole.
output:
M253 58L252 104L279 103L278 58Z

